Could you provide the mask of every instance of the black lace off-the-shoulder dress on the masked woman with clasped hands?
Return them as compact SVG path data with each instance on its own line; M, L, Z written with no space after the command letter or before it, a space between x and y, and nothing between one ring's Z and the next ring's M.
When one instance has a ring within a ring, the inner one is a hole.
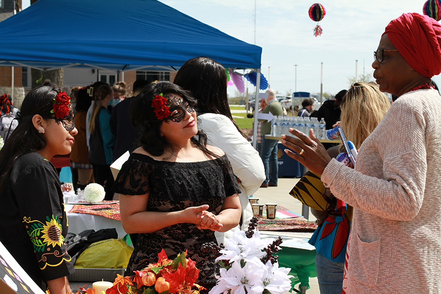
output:
M226 156L201 162L158 161L147 155L132 153L123 164L114 190L123 195L149 194L147 211L170 212L190 206L208 204L208 211L219 214L225 197L240 193L236 177ZM216 283L215 260L200 255L205 242L215 242L214 232L199 230L195 224L179 223L156 232L132 234L135 250L126 274L142 270L158 261L164 248L169 259L188 250L187 258L196 262L196 283L213 287Z

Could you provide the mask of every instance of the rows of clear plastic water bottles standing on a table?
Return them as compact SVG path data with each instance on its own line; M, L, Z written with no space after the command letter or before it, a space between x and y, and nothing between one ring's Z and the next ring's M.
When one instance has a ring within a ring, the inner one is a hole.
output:
M280 137L283 134L290 134L290 128L297 129L302 133L309 135L309 129L314 130L317 138L326 138L326 123L324 119L319 121L313 117L291 117L291 116L274 116L271 121L271 137Z

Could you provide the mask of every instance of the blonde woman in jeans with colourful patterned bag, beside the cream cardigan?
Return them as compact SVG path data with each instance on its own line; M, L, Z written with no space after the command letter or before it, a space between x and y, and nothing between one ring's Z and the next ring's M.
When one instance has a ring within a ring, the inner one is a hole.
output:
M388 112L391 102L380 92L378 86L372 83L355 83L342 98L342 121L347 140L360 148L363 141L373 132ZM339 122L338 122L339 123ZM337 124L338 124L337 123ZM336 124L336 125L337 125ZM331 157L337 157L344 152L341 146L327 150ZM341 294L343 289L343 270L351 222L352 207L338 202L329 189L325 189L319 181L318 174L309 172L308 177L318 179L315 186L318 194L311 194L311 198L302 196L303 181L297 184L291 195L311 206L312 214L317 218L319 228L309 243L316 247L316 270L321 293ZM313 181L311 181L313 182ZM320 186L320 187L318 187ZM323 192L322 192L323 191ZM321 194L320 194L321 193ZM307 201L314 196L313 201Z

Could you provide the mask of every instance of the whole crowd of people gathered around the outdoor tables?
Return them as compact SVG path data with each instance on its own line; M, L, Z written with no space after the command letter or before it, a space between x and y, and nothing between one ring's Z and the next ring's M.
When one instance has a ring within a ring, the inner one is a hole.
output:
M291 194L319 223L310 243L321 293L441 289L441 97L431 80L441 73L440 44L438 22L403 14L374 51L375 83L354 83L315 112L313 99L302 101L297 116L343 128L359 150L355 166L336 160L343 145L326 148L312 129L282 135L285 152L309 169L305 181L319 179L315 194L301 185ZM208 57L189 59L173 83L135 81L131 97L124 82L96 82L70 96L50 83L32 89L0 150L8 208L0 215L1 243L42 289L71 292L67 216L50 163L70 154L75 190L96 182L106 200L119 195L134 246L126 274L155 263L161 249L171 259L187 250L208 292L219 265L200 247L246 230L248 196L278 185L278 140L265 137L270 122L256 116L255 150L231 115L226 89L225 68ZM266 93L259 112L283 115L275 91ZM1 101L9 112L8 97ZM114 179L110 165L126 151Z

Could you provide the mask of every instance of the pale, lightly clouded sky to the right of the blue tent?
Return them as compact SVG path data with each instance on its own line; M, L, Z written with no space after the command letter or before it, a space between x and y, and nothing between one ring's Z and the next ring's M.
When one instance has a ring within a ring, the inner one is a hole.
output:
M402 13L422 13L425 2L320 0L326 15L319 22L323 33L315 37L313 30L317 22L308 15L309 7L315 1L160 1L228 35L262 47L262 73L269 80L270 87L283 95L295 90L319 94L321 63L323 93L335 95L347 89L349 78L356 75L356 60L358 76L365 73L371 77L373 51L377 49L386 25ZM29 0L23 0L23 7L28 3ZM434 80L441 84L439 76ZM247 84L249 92L255 91L251 84ZM228 86L228 92L235 96L235 86Z

